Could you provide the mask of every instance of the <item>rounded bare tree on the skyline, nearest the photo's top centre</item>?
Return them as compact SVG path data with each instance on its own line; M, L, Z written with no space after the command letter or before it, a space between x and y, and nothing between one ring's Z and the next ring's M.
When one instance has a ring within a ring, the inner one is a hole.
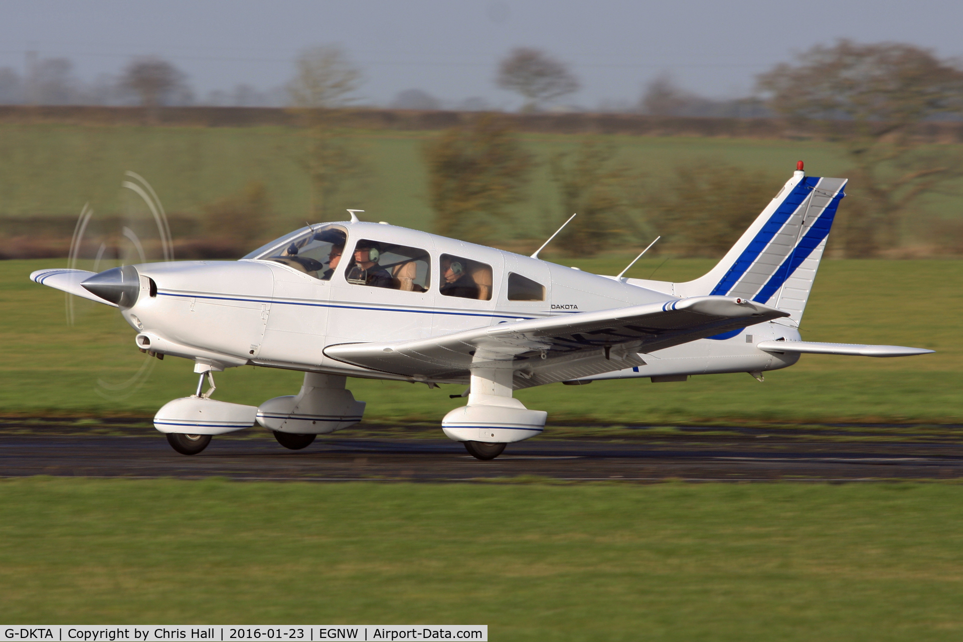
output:
M498 66L498 86L525 98L523 112L535 112L543 103L579 90L579 80L568 66L544 51L517 47Z

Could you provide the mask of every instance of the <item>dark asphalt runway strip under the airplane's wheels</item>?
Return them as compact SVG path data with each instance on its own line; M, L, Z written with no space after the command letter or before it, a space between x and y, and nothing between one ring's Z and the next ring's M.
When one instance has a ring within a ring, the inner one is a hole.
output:
M717 429L716 429L717 430ZM15 432L15 431L14 431ZM303 450L270 435L215 437L184 456L151 428L124 435L0 434L0 476L180 477L348 481L473 481L544 477L560 480L765 481L951 479L963 477L963 442L860 435L806 441L747 434L672 438L552 440L510 444L491 461L460 444L430 438L321 436ZM760 433L762 431L755 431ZM344 436L342 436L344 435Z

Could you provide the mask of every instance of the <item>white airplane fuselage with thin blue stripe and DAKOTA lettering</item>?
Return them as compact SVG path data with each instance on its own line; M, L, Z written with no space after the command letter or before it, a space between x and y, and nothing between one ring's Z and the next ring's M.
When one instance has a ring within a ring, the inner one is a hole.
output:
M124 318L142 333L172 345L204 350L208 359L220 360L227 366L252 364L404 379L331 359L325 355L325 347L428 339L507 321L677 298L625 279L403 227L369 222L336 225L347 232L345 257L352 255L354 244L362 239L423 251L422 262L426 265L421 268L421 278L427 287L402 290L358 283L357 279L351 282L346 278L347 260L329 270L327 280L292 267L290 261L270 259L152 263L136 266L142 279L152 285L143 285L143 295L134 306L122 310ZM452 256L466 265L490 268L485 277L490 282L490 292L485 292L488 298L443 294L439 284L445 283L444 270L450 266ZM531 287L541 286L540 300L538 295L529 296L529 300L511 300L518 298L511 288L517 288L519 281ZM593 378L784 368L792 365L797 355L774 355L755 347L762 341L779 338L797 340L799 336L791 324L760 323L733 337L703 339L659 350L644 355L646 365L638 369Z

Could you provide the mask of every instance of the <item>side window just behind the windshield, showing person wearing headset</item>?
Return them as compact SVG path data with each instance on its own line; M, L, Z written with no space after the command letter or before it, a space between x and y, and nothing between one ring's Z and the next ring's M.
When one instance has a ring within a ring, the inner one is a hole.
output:
M361 239L354 244L345 278L353 285L425 292L429 274L430 259L424 249Z

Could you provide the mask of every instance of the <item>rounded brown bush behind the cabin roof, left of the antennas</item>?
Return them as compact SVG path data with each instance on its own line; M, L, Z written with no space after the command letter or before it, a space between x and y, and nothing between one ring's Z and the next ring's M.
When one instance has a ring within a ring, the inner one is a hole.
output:
M497 116L478 116L425 146L429 201L438 234L483 243L525 198L532 155Z

